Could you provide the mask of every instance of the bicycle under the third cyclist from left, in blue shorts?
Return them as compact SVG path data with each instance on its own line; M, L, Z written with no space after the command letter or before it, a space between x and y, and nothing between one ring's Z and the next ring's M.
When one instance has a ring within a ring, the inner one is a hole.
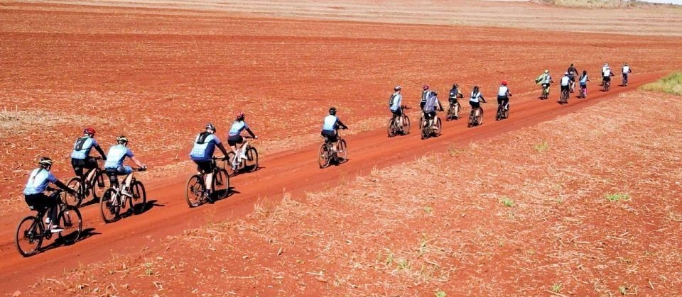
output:
M134 168L133 171L143 172L146 168ZM129 205L126 213L133 211L135 214L140 214L144 211L147 202L147 194L144 185L133 177L130 182L130 196L121 194L121 185L116 174L105 172L109 176L111 187L104 191L102 199L99 199L99 213L102 215L104 223L112 223L118 220L121 215L121 210ZM132 174L132 173L131 173ZM130 174L128 174L130 175ZM128 178L128 175L123 180Z

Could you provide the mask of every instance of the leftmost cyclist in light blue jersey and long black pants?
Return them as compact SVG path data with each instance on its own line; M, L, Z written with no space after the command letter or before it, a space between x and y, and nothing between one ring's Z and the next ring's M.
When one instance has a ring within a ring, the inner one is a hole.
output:
M35 208L36 211L49 211L48 217L45 218L45 223L53 223L52 228L50 228L50 232L62 232L64 229L59 227L59 222L57 221L57 205L59 203L59 196L56 192L50 196L45 195L43 192L48 189L48 184L50 183L53 183L55 186L60 187L60 189L69 192L69 194L75 194L76 191L67 187L63 182L59 181L59 179L57 179L52 172L50 172L50 169L52 168L52 159L49 157L40 157L38 165L40 165L40 167L33 169L31 174L28 175L28 181L26 182L26 186L23 188L23 198L26 200L26 204Z

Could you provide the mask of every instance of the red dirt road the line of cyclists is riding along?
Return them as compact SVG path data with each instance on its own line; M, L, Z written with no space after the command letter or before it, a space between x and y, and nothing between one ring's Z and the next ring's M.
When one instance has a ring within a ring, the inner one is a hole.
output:
M513 100L508 120L495 122L494 103L484 105L488 111L484 125L466 128L465 120L443 122L443 135L439 138L420 140L418 133L404 137L386 138L384 130L375 130L347 137L350 147L350 161L339 167L318 169L315 155L316 145L303 150L281 152L262 159L263 169L253 174L244 174L232 179L237 193L214 205L188 208L183 198L185 179L178 177L165 184L148 184L148 200L156 205L146 213L119 222L101 223L96 206L82 208L84 228L94 228L94 235L69 247L58 247L35 257L22 258L14 250L13 228L0 232L0 293L15 290L35 283L41 277L59 274L79 264L108 259L112 254L144 249L155 240L174 235L187 228L197 227L207 220L224 220L252 211L254 203L281 198L283 191L311 191L336 184L358 174L367 174L372 167L386 167L411 160L426 152L438 152L450 146L464 145L472 140L490 138L499 133L533 125L556 116L570 113L588 104L607 100L621 91L637 88L663 75L662 72L633 76L627 87L614 86L609 93L592 91L585 101L570 99L568 106L559 106L556 101L538 101L526 94ZM595 89L596 84L592 84ZM533 94L536 93L535 91ZM491 100L492 101L492 100ZM468 108L465 108L465 114ZM418 117L411 114L412 118ZM491 121L492 120L492 121ZM352 127L351 127L352 128ZM10 220L11 219L11 220ZM12 226L15 218L3 217L1 225Z

